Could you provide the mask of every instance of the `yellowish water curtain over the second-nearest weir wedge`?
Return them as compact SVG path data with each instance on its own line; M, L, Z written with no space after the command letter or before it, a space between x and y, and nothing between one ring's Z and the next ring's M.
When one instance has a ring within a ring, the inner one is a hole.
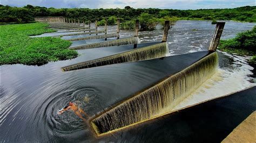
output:
M149 60L154 58L164 57L169 51L166 42L161 42L159 44L154 44L151 46L146 46L142 48L135 48L129 51L125 51L122 53L106 56L104 58L99 58L95 60L80 62L75 65L70 65L66 67L62 67L63 71L76 70L82 68L92 68L99 67L105 65L112 65L116 63L123 62L134 62L141 60Z

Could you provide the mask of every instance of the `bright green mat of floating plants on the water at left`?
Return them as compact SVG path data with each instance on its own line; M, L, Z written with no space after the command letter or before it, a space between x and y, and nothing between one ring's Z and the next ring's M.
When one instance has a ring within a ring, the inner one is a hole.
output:
M24 65L44 65L50 61L76 58L78 53L68 49L70 41L60 38L30 38L53 32L44 29L48 24L30 23L0 26L0 65L21 63Z

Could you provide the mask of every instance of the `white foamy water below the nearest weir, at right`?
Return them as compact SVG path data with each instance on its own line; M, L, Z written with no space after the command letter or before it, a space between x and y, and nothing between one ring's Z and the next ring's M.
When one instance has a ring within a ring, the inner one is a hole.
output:
M225 52L222 53L234 59L235 63L232 65L235 66L234 70L229 71L219 68L212 78L204 82L198 89L192 92L190 96L174 107L172 111L256 85L256 83L249 82L250 77L248 77L248 75L252 74L250 70L252 70L253 67L246 64L246 58L230 55Z

